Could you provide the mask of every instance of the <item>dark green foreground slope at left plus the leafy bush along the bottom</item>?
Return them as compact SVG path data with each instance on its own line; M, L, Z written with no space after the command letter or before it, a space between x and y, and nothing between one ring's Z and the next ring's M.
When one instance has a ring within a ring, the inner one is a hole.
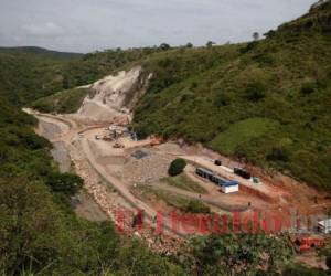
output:
M231 275L243 267L255 274L261 265L275 272L291 256L286 236L264 234L196 237L180 255L161 255L120 236L113 222L78 219L70 199L83 180L58 172L34 124L0 100L1 275Z

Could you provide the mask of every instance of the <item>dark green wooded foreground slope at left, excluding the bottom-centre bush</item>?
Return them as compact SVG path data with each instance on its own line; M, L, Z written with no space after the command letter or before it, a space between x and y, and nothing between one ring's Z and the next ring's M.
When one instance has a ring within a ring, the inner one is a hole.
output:
M113 223L77 219L70 197L83 180L58 172L34 119L0 100L0 274L181 275L182 268Z

